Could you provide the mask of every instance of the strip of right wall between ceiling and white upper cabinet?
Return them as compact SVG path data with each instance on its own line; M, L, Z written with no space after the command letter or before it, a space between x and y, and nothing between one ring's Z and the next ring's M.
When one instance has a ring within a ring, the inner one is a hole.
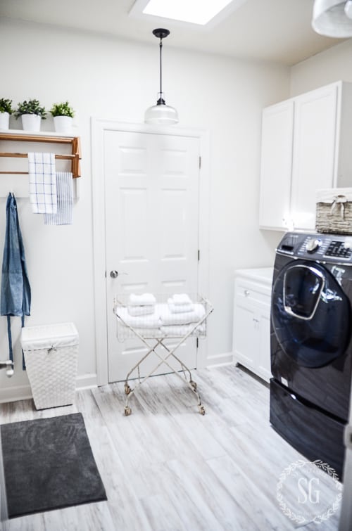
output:
M352 82L352 39L318 53L291 69L291 96L335 81Z

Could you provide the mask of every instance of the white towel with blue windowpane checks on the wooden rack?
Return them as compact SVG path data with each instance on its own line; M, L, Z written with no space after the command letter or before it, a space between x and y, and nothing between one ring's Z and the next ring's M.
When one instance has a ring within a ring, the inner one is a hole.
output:
M54 153L28 153L30 204L34 214L56 212L56 174Z

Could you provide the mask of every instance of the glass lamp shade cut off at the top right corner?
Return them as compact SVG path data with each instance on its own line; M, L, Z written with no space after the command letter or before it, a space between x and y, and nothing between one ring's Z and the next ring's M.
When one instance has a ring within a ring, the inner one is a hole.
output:
M327 37L352 37L352 1L315 0L312 27Z

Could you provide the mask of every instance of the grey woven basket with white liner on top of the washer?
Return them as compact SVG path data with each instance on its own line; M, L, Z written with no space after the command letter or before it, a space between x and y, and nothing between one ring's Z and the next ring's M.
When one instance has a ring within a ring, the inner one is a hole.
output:
M352 188L329 188L317 192L317 232L352 234Z

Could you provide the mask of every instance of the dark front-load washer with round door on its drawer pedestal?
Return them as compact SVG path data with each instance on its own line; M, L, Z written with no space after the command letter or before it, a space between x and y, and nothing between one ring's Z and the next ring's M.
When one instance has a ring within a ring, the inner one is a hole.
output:
M272 283L270 423L342 478L352 370L352 236L287 233Z

